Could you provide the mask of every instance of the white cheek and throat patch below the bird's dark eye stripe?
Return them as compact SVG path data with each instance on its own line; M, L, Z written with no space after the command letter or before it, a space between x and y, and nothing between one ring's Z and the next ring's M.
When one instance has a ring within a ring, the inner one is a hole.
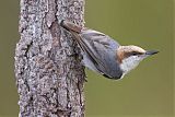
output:
M124 71L124 75L128 73L130 70L135 69L142 59L143 58L138 56L131 56L131 57L125 58L122 60L122 63L120 65L120 68Z

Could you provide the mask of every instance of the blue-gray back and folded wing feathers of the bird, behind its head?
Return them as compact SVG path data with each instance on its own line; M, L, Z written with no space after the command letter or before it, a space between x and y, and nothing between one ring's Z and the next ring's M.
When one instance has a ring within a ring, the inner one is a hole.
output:
M82 31L81 37L104 66L102 67L100 65L96 69L108 74L109 78L118 78L121 75L121 70L119 69L116 58L116 51L119 47L117 42L93 30Z

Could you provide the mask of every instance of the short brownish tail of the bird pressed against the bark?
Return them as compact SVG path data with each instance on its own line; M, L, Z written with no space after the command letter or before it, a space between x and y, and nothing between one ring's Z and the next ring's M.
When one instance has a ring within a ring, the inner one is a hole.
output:
M72 31L72 32L75 32L75 33L81 33L81 30L82 27L79 26L79 25L75 25L74 23L72 22L69 22L69 21L66 21L66 20L62 20L60 22L60 26L62 26L63 28L68 30L68 31Z

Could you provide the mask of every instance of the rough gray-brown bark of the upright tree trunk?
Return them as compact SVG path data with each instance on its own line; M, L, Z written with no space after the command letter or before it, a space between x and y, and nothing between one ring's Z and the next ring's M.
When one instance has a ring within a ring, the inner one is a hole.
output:
M21 0L15 77L21 117L83 117L84 68L71 35L83 26L84 0Z

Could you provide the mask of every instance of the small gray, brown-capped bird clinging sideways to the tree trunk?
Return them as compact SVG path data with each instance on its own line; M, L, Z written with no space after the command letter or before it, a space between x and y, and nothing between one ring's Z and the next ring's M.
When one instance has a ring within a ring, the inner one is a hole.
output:
M140 61L158 50L144 50L135 45L122 46L108 35L62 20L60 26L68 31L81 49L82 65L105 78L122 79Z

